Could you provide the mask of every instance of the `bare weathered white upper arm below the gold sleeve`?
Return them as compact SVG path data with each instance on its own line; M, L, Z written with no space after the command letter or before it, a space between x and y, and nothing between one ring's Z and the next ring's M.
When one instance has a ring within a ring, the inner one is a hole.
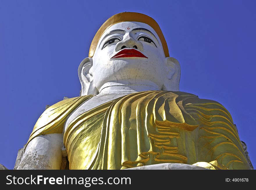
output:
M26 146L17 169L61 169L62 134L40 135Z

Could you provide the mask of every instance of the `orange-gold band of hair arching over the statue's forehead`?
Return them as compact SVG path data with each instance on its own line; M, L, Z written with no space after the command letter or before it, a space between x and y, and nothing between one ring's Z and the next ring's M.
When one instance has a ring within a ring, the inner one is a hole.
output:
M96 35L93 38L93 41L91 43L90 50L89 50L89 57L93 57L96 46L99 42L99 39L102 36L102 34L106 31L107 28L119 22L126 22L126 21L142 22L151 26L154 29L154 31L156 31L158 37L161 40L165 56L169 57L167 43L165 41L163 33L159 25L157 24L157 22L151 17L141 13L137 13L137 12L121 12L116 15L113 15L106 22L104 22L104 24L102 24L102 26L99 28L99 30L97 31Z

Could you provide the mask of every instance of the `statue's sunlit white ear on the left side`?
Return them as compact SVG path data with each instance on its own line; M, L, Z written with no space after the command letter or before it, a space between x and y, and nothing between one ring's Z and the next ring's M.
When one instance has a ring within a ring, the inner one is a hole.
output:
M98 94L97 89L93 84L93 75L89 72L93 66L92 58L85 58L78 67L78 76L82 86L81 96L89 94Z

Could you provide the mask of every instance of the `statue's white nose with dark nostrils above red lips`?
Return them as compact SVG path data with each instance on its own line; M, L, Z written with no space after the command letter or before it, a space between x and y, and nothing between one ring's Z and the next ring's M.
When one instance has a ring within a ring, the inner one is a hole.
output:
M140 41L135 40L130 35L127 35L122 41L116 44L115 51L119 51L124 48L135 48L139 51L143 51L143 44Z

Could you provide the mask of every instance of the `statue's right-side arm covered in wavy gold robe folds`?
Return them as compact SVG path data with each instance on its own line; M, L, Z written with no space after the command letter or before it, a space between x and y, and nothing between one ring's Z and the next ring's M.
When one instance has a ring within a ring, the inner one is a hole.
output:
M230 113L218 102L191 98L186 111L200 123L198 158L228 169L250 169Z

